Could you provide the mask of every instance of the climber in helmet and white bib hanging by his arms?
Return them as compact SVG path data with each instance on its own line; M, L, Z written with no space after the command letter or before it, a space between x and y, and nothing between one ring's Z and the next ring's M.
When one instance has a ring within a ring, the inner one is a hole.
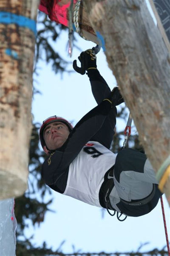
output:
M161 192L146 155L122 149L111 150L116 125L116 106L124 102L118 87L112 91L96 66L92 49L73 63L91 82L97 106L73 125L59 116L43 121L40 142L48 155L42 164L42 178L55 191L96 207L125 216L141 216L156 207Z

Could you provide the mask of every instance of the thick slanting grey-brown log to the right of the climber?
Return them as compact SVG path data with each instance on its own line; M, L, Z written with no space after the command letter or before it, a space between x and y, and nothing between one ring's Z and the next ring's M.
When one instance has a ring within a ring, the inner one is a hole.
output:
M91 24L158 172L170 154L170 53L145 0L85 0ZM164 186L170 204L170 178Z

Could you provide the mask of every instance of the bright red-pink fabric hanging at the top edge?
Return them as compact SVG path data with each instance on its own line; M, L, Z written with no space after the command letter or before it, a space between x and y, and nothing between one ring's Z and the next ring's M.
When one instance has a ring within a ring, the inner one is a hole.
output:
M74 4L76 2L74 0ZM41 0L38 9L47 14L50 20L68 27L69 6L70 0L65 4L62 4L62 0Z

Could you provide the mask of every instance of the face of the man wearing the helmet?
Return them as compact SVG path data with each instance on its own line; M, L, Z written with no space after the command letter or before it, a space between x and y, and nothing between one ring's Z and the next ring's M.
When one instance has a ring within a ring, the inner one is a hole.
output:
M47 125L43 132L45 144L49 150L60 148L68 138L68 126L62 122L52 122Z

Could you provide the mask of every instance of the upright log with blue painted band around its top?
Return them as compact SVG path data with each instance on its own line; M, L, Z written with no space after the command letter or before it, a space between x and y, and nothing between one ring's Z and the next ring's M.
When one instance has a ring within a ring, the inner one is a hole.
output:
M1 0L0 199L27 189L37 0Z

